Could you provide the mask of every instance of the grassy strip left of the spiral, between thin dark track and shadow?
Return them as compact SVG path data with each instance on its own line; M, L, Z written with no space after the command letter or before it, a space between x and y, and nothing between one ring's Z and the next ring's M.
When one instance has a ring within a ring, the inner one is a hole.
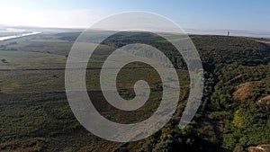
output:
M64 92L64 70L4 71L0 89L5 94Z

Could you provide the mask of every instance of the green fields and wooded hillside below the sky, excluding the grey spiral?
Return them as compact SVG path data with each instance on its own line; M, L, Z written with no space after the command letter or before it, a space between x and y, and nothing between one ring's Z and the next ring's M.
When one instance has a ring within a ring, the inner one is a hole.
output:
M98 33L94 31L98 38ZM102 33L101 33L102 34ZM189 91L189 76L181 55L152 33L121 32L99 46L88 63L86 85L94 105L112 121L147 119L160 102L160 77L149 67L131 64L119 77L118 89L132 98L138 79L151 88L151 102L135 112L119 112L101 94L98 74L113 49L143 42L161 49L179 75L181 98L173 119L148 139L114 143L85 130L71 112L65 93L67 54L79 32L39 34L0 41L0 151L247 151L270 144L270 46L242 37L192 35L202 58L202 106L184 129L176 126ZM180 39L175 37L175 39ZM87 45L94 40L83 42ZM151 75L148 75L150 73Z

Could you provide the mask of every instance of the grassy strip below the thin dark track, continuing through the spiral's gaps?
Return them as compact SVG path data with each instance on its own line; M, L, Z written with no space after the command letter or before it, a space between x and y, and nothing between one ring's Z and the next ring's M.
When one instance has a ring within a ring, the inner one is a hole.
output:
M143 71L152 69L144 69ZM98 91L98 70L87 70L86 85L88 91ZM132 89L136 80L146 80L152 88L157 87L158 76L143 77L142 69L122 69L118 75L119 89ZM186 71L179 71L181 88L188 87L189 80ZM137 77L136 79L134 77ZM46 93L65 91L65 70L18 70L4 71L0 75L0 89L2 93Z

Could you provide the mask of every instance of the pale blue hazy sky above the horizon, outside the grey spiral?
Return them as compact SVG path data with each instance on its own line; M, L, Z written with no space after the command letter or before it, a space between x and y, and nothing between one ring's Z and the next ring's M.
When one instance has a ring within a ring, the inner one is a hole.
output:
M269 0L0 0L0 24L88 27L126 11L159 13L184 29L270 31Z

